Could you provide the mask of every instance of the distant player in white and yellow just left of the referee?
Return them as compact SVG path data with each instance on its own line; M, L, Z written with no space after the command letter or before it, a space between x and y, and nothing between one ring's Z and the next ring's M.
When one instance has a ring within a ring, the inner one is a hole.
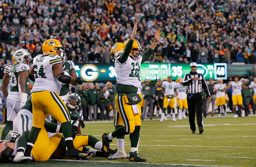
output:
M186 112L187 112L187 87L183 86L181 84L182 78L178 77L178 104L179 104L179 110L178 110L178 119L182 119L182 117L186 118ZM183 110L183 111L182 111Z

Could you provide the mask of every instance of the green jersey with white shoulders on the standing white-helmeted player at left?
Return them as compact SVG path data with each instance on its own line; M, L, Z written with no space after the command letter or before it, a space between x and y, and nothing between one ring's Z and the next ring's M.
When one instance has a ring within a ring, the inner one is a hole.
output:
M19 72L22 72L22 71L29 71L28 64L24 64L24 63L13 64L10 69L10 72L9 72L10 91L7 98L11 100L21 101L21 98L19 95L18 77L19 77ZM28 82L29 82L29 79L27 77L25 82L25 88L26 88L25 93L28 93Z

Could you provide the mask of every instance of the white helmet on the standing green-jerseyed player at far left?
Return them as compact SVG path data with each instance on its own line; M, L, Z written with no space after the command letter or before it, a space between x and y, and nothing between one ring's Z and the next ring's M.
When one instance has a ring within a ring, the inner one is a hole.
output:
M18 49L13 54L14 61L16 63L25 63L25 64L31 64L31 54L26 49ZM30 60L30 62L28 62Z

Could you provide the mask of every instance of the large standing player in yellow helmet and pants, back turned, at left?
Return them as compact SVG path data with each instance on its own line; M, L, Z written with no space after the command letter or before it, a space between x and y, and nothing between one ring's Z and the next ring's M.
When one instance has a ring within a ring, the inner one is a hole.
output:
M59 93L61 82L66 84L77 82L81 85L83 79L64 74L61 58L64 51L58 40L46 40L42 45L42 50L44 54L37 55L34 58L33 67L29 71L29 78L34 81L31 98L33 103L33 127L28 135L24 155L27 157L30 155L37 136L44 127L44 120L47 114L50 114L62 124L63 136L68 146L66 157L78 158L83 155L79 155L73 145L69 113L65 103L60 99Z

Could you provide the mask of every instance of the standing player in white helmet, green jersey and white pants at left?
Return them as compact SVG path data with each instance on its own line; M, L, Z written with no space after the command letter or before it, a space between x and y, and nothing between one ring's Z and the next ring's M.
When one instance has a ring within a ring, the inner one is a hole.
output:
M7 79L5 78L4 94L7 95L6 106L7 106L7 122L3 128L1 140L4 140L6 134L12 129L13 120L19 109L25 104L28 93L28 71L30 61L32 60L31 54L26 49L18 49L14 55L14 62L10 68L9 80L10 80L10 91L8 93L6 89ZM6 75L7 76L7 75Z

